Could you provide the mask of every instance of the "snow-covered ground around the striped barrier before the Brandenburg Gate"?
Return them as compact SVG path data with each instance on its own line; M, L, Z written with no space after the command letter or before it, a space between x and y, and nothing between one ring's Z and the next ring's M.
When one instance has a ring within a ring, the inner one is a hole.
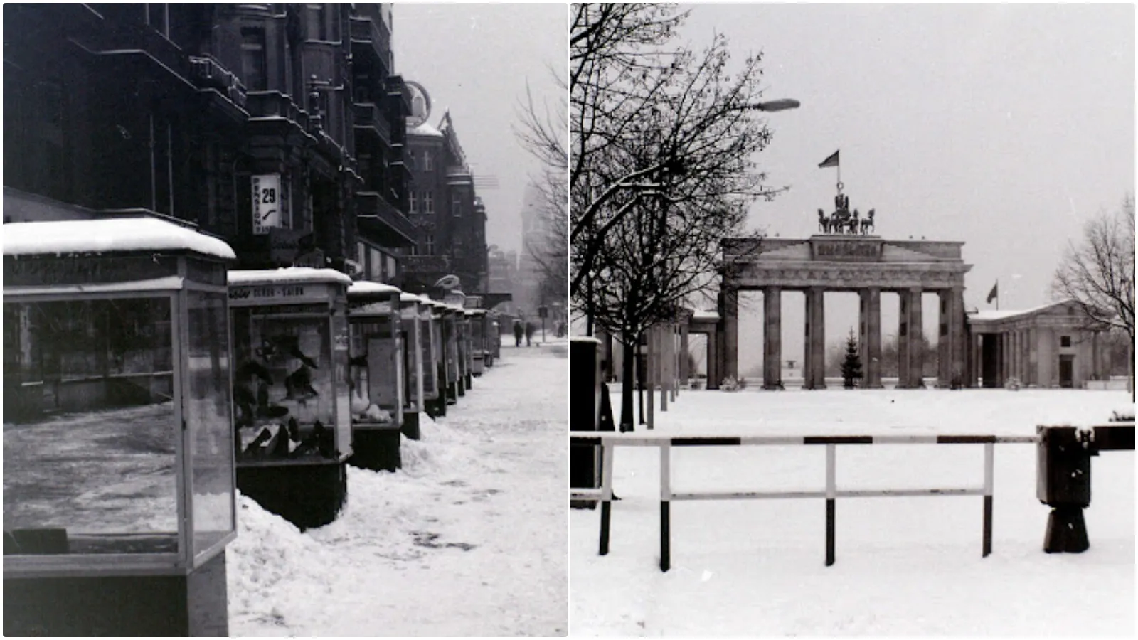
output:
M683 391L655 430L1034 435L1041 424L1104 424L1128 405L1113 391ZM673 491L825 486L823 446L683 448L671 460ZM982 445L847 445L836 456L840 490L980 486L982 469ZM1133 452L1092 458L1091 482L1091 547L1080 555L1042 551L1036 446L998 444L988 558L979 497L839 499L831 567L823 500L685 501L671 503L671 571L661 573L659 452L618 448L608 556L597 556L600 510L570 514L570 631L1133 635Z

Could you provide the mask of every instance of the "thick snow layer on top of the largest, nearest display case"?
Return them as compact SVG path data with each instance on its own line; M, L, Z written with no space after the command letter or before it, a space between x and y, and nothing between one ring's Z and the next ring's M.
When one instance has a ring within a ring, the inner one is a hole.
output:
M150 216L100 220L9 222L3 225L5 255L189 251L236 260L223 240Z

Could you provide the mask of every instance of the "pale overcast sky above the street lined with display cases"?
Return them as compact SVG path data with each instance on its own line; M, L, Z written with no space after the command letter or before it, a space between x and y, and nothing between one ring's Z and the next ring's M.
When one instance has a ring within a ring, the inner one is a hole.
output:
M521 248L521 198L539 166L511 124L529 83L551 108L564 101L550 67L564 77L568 6L428 5L393 7L395 69L430 93L430 123L451 109L459 142L477 177L496 177L497 189L478 189L486 204L487 244Z

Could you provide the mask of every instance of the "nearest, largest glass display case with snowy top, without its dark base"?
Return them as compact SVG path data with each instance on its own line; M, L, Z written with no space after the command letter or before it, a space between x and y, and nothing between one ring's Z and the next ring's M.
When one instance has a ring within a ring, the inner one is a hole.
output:
M5 577L188 575L236 535L223 241L3 225Z

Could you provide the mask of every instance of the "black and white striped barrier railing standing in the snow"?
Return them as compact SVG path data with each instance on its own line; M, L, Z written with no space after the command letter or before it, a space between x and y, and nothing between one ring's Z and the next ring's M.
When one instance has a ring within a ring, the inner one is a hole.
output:
M601 489L571 491L574 500L601 502L600 555L609 552L609 531L612 502L612 453L617 446L658 446L660 449L660 571L671 566L670 511L674 500L754 500L773 498L826 499L826 566L834 564L835 500L838 498L917 497L917 495L982 495L983 557L992 548L992 469L996 444L1034 444L1038 436L996 435L833 435L833 436L666 436L641 434L571 433L571 444L600 445L602 451ZM673 492L673 446L741 446L741 445L813 445L826 446L826 486L822 491L731 491L731 492ZM838 445L853 444L983 444L984 477L978 487L941 489L885 489L844 490L836 487Z

